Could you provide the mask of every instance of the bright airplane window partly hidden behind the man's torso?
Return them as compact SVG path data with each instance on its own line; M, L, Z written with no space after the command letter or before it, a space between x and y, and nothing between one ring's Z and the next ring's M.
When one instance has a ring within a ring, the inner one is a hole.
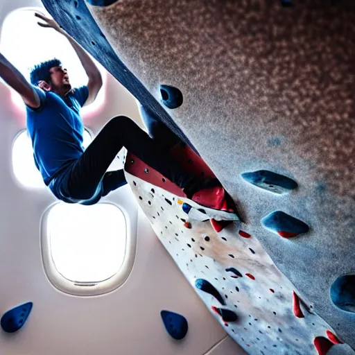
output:
M85 129L83 133L83 147L87 148L92 142L90 132ZM31 138L27 130L23 130L15 138L12 145L12 171L16 180L26 188L46 188L40 171L35 166Z

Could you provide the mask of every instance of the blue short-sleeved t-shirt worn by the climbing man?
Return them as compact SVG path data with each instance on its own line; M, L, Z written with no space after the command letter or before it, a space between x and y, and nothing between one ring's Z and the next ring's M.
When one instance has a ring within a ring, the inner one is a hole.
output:
M73 89L65 98L34 87L40 96L40 107L26 106L27 129L32 139L35 164L46 185L84 153L83 107L87 86Z

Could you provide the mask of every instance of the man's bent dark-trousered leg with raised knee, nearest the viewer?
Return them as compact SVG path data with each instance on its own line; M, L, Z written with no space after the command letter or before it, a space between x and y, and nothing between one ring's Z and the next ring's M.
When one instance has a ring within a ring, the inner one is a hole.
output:
M178 162L125 116L110 120L71 168L67 192L71 198L92 198L114 157L125 147L143 162L184 189L189 198L200 189L200 182L186 173Z

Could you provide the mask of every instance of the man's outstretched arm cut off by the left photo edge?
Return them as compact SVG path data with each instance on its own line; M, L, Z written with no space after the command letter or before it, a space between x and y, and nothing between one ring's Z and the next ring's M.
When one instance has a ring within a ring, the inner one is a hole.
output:
M0 53L0 76L15 89L23 98L26 105L40 107L40 97L24 76Z

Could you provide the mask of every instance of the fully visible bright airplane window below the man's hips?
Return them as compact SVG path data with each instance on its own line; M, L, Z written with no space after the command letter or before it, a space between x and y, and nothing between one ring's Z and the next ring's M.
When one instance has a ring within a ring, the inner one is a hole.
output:
M72 282L102 282L122 266L126 248L125 216L108 203L54 205L46 219L51 257Z

